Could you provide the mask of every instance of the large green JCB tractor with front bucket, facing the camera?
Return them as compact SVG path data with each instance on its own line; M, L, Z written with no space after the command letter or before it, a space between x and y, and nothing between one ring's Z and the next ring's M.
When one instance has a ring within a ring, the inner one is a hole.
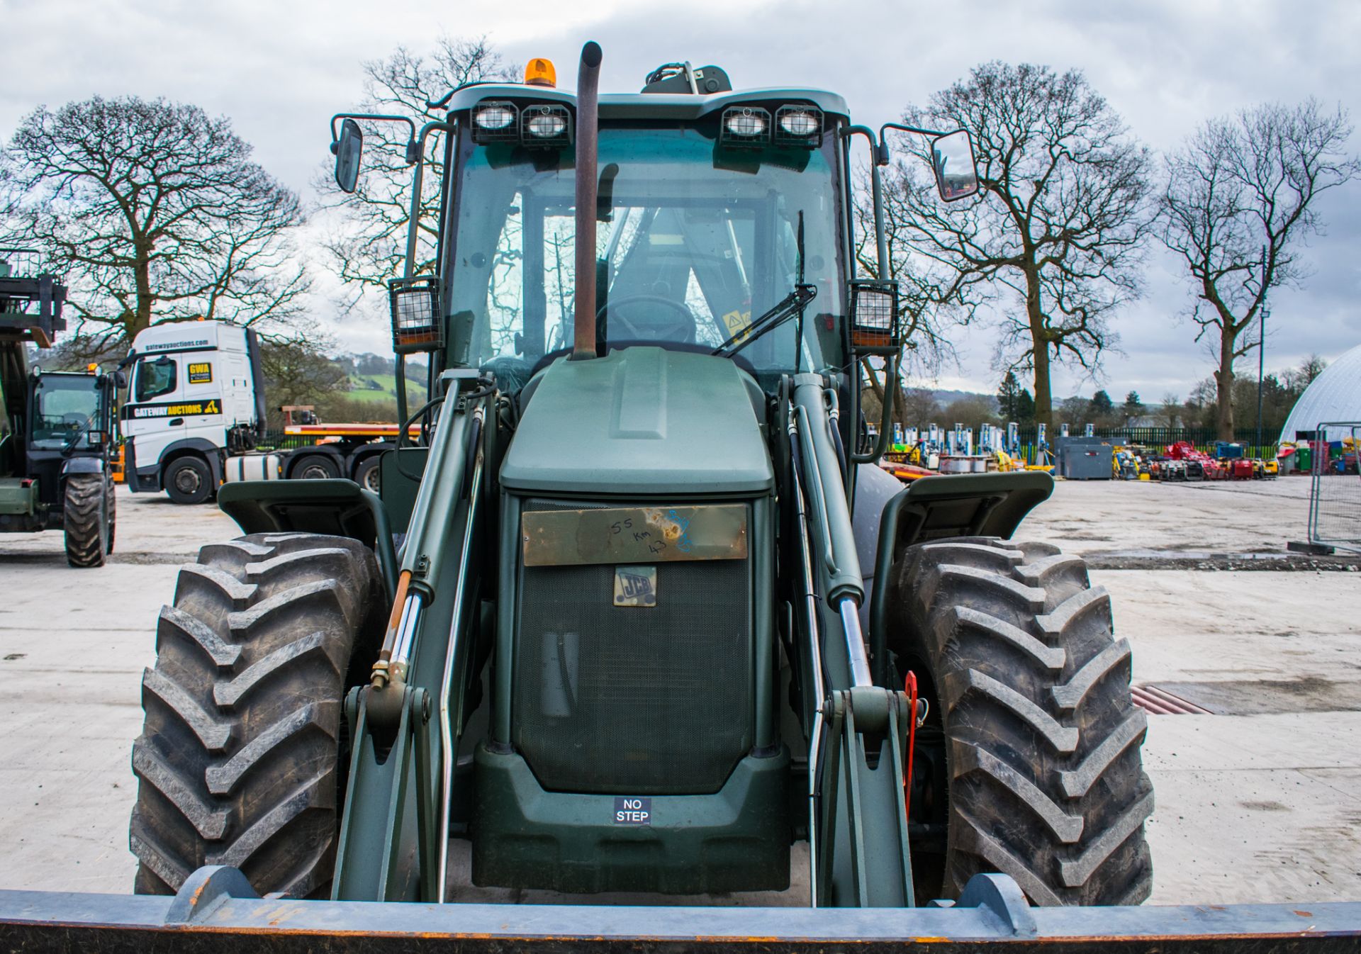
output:
M348 480L229 483L245 536L161 614L140 897L0 894L71 950L1354 950L1358 905L1138 908L1145 716L1047 474L871 467L897 289L856 275L852 146L807 88L531 61L411 125L433 271L391 283L421 425ZM355 188L361 122L332 118ZM943 200L977 189L931 139ZM879 275L886 269L878 226ZM407 427L401 429L407 434Z

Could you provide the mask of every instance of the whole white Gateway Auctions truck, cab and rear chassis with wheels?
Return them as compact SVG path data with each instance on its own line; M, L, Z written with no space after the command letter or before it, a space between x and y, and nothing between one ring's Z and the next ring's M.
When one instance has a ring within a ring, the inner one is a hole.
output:
M340 476L377 490L378 457L395 446L396 425L290 422L287 435L316 444L256 452L265 427L260 342L230 321L152 325L133 339L129 365L121 423L133 493L203 504L223 480Z

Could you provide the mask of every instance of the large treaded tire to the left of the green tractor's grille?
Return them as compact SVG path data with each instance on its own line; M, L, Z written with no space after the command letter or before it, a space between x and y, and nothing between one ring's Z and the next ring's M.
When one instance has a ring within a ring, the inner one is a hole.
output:
M373 553L346 538L256 533L180 570L132 747L139 894L203 864L261 894L329 893L347 674L376 652L384 603Z

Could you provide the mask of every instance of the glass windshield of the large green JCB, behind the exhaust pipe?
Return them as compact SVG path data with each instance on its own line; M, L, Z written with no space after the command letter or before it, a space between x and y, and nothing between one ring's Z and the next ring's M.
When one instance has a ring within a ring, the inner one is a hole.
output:
M753 370L840 363L840 210L833 135L822 148L727 150L716 127L602 127L596 335L606 350L712 351L785 299L817 289L800 321L738 351ZM461 140L448 274L452 358L523 384L570 347L570 150ZM802 220L802 254L800 254Z

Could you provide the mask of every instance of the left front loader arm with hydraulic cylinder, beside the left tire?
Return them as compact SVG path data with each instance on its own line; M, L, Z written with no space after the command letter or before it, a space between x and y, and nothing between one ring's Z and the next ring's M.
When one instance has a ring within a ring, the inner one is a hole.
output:
M332 898L440 901L453 762L464 721L485 521L485 422L493 395L446 372L391 623L367 685L350 691L350 774Z

